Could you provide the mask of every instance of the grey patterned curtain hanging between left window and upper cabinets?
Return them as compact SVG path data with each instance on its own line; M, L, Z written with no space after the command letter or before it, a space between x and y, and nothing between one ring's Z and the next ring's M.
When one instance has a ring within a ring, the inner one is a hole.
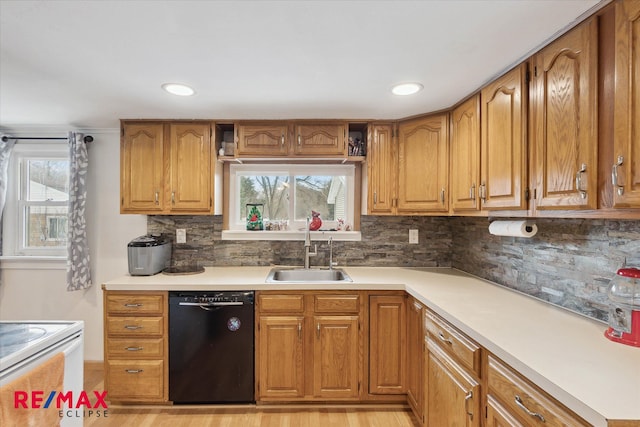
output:
M69 132L69 168L67 291L79 291L92 284L86 220L89 155L80 133Z

